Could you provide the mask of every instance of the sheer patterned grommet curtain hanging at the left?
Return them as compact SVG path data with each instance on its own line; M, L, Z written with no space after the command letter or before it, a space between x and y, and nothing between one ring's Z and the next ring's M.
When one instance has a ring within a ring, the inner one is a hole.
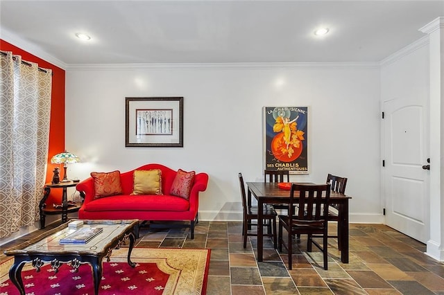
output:
M48 159L51 70L1 53L0 238L39 219ZM45 73L46 71L46 73Z

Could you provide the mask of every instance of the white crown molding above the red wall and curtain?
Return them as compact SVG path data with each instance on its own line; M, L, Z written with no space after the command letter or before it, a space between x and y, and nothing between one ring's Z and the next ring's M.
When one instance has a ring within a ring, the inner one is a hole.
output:
M42 60L49 62L50 64L58 66L60 69L66 69L67 67L67 64L65 64L65 62L58 60L56 57L53 57L53 55L50 55L46 51L42 50L42 48L35 46L35 44L32 44L31 42L28 42L18 37L17 35L11 33L6 28L1 28L0 39L14 46L22 48L24 51L27 51L28 53L31 53L32 55L35 55L41 58Z

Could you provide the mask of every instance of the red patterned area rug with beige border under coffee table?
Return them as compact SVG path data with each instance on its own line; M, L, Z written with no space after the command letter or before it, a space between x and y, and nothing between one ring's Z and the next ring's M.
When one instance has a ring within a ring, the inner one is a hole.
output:
M134 248L128 265L127 248L112 251L111 261L103 262L99 294L205 294L210 249L151 249ZM13 258L0 265L0 295L19 294L9 280L8 271ZM27 295L94 294L92 269L81 265L78 272L62 265L58 273L45 265L40 272L31 263L22 270Z

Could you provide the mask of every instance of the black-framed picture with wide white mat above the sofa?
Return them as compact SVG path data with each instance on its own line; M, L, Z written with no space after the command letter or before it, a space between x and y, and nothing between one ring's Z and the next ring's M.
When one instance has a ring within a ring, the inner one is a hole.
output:
M183 147L183 98L125 98L126 147Z

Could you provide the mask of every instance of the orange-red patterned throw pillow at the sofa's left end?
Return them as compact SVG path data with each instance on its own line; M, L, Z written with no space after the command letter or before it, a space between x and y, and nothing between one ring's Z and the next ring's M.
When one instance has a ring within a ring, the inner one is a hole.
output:
M120 195L122 193L119 170L113 172L91 172L91 177L94 179L94 190L96 192L94 199Z

